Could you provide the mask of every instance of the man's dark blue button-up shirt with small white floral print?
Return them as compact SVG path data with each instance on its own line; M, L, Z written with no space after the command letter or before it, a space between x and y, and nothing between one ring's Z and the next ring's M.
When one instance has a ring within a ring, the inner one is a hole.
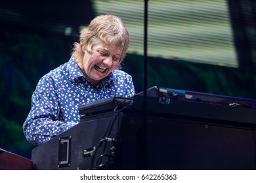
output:
M114 70L94 86L72 56L70 61L39 80L32 95L32 108L23 125L24 135L33 144L43 144L79 123L79 105L113 95L135 95L130 75Z

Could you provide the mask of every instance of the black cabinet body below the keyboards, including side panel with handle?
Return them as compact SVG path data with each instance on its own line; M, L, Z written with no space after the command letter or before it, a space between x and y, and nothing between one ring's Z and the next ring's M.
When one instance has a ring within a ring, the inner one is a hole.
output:
M32 161L34 169L255 169L255 129L206 118L149 113L144 121L135 110L106 112L33 149Z

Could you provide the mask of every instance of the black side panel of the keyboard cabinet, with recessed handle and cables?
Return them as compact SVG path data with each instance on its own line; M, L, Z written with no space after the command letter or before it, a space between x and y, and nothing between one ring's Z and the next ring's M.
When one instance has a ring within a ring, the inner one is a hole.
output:
M114 153L111 150L114 146L112 139L116 137L119 121L120 117L113 112L81 120L71 129L32 150L33 169L95 169L103 151L101 161L106 158L109 161L111 151ZM112 124L113 127L110 126ZM105 133L110 138L102 141ZM108 165L105 164L103 168L108 168Z

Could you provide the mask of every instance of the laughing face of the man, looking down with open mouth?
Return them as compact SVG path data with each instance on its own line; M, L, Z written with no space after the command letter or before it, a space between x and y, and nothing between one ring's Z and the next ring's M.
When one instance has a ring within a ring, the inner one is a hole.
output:
M120 63L121 50L110 44L100 43L93 46L89 53L83 49L82 72L94 84L98 84L102 78L108 76L111 71L117 69Z

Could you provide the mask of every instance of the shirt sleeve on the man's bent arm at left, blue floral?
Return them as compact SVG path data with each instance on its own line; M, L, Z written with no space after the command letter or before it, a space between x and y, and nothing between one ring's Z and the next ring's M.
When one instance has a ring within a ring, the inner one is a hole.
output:
M54 81L51 77L41 78L33 92L32 108L23 125L26 139L33 144L43 144L76 124L78 122L62 121Z

